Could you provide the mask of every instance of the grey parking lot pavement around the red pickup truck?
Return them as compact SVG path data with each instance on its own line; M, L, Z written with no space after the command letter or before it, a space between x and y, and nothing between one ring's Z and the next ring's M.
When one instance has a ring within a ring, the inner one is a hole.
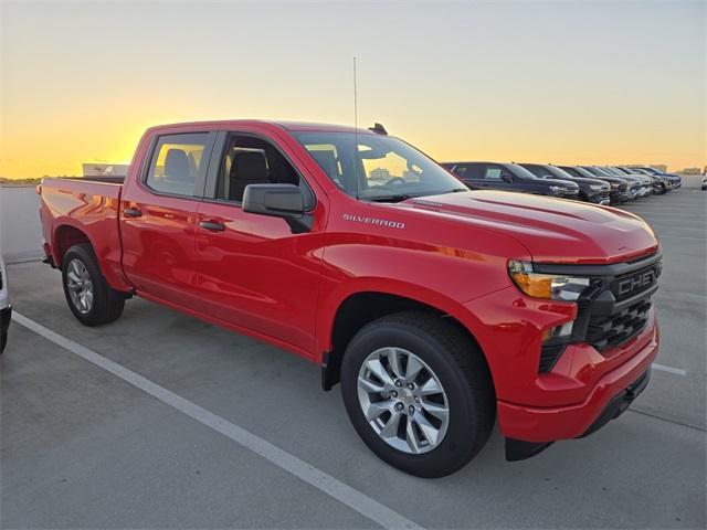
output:
M434 480L378 460L316 365L139 299L85 328L56 271L10 266L0 524L705 528L706 200L683 189L625 208L665 254L661 354L632 410L520 463L495 434Z

